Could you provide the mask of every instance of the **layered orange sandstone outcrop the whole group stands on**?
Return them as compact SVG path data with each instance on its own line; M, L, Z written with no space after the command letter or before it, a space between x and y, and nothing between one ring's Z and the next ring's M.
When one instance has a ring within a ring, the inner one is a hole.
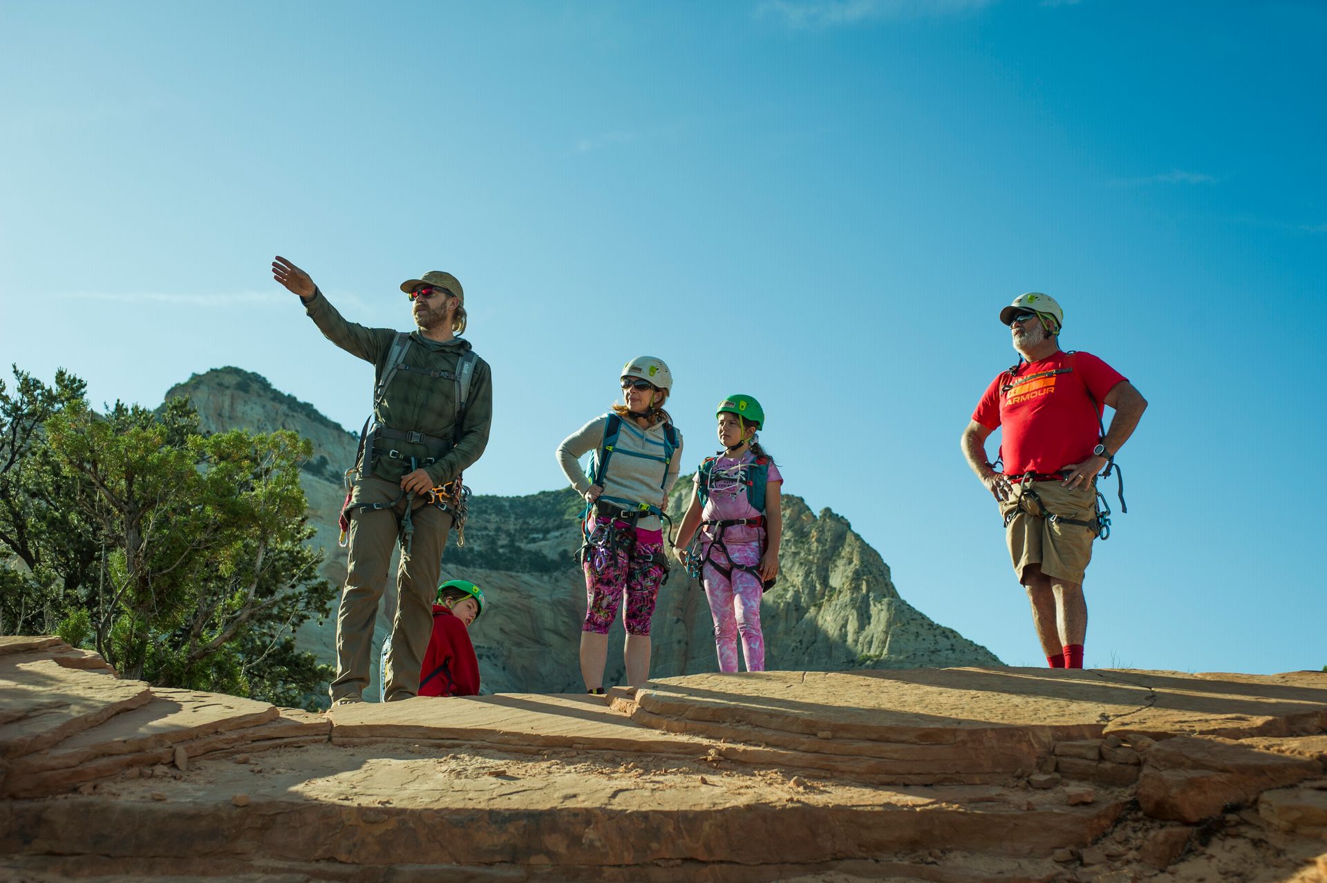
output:
M690 675L328 716L0 638L0 879L1323 883L1327 675Z

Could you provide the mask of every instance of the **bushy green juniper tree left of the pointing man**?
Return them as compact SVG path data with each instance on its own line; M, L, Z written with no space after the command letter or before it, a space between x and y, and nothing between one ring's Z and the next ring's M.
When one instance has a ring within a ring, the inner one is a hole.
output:
M204 435L186 399L98 415L81 382L15 371L0 415L23 447L0 448L16 476L0 473L0 548L21 566L0 567L0 587L20 591L0 630L57 630L158 685L311 704L329 672L293 631L333 589L304 545L309 443Z

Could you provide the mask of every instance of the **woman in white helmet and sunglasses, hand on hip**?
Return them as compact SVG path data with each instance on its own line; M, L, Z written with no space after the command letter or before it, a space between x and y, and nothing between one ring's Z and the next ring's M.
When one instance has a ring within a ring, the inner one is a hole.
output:
M557 447L563 472L585 497L581 562L587 605L580 663L591 693L604 692L608 630L624 597L626 681L637 687L649 680L650 619L667 578L661 516L682 452L682 434L664 410L673 390L667 365L642 355L622 367L620 379L622 403ZM591 451L585 475L579 460Z

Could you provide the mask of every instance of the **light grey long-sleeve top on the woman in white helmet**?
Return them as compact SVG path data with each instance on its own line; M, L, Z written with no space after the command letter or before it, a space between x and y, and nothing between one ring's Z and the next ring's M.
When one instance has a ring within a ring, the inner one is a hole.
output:
M557 445L557 464L563 467L567 480L580 495L591 488L589 476L580 468L580 457L593 451L594 468L596 472L598 471L597 460L604 444L605 426L608 426L606 414L572 432ZM613 457L608 463L608 475L600 476L600 487L604 488L605 499L649 502L662 509L667 502L667 492L677 484L678 468L682 463L682 434L677 432L677 449L673 452L673 460L666 465L658 460L638 456L642 453L648 457L664 456L664 423L660 422L649 430L641 430L634 422L622 420L617 444L613 445ZM657 516L650 514L642 517L636 526L642 530L658 530L661 524Z

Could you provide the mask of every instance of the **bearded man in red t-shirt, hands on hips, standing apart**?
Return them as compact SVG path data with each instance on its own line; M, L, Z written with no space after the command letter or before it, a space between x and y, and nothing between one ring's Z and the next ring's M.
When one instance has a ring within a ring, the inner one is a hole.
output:
M1019 365L982 395L963 431L963 456L999 502L1018 581L1051 668L1082 668L1087 636L1083 574L1097 534L1096 476L1139 424L1147 400L1089 353L1064 353L1064 312L1028 292L1001 310ZM1100 435L1103 406L1115 408ZM1003 427L1005 471L986 459L986 438Z

